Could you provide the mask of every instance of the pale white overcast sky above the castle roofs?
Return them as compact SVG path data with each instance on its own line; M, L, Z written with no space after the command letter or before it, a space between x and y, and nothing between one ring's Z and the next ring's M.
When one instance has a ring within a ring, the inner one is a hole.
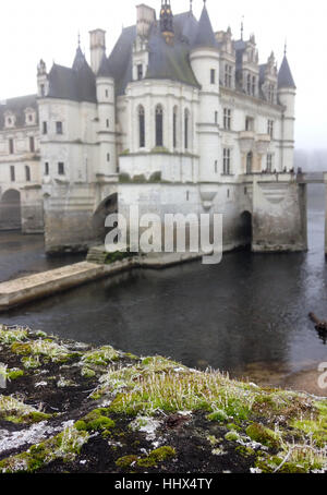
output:
M88 57L88 31L107 31L108 52L123 26L135 24L135 5L142 0L2 0L0 29L0 98L36 92L36 65L43 58L50 69L53 60L71 65L81 32ZM159 11L160 0L145 0ZM174 13L190 8L189 0L171 0ZM193 1L198 17L202 0ZM215 31L229 25L240 37L256 35L261 63L271 50L281 62L284 39L298 85L298 147L327 148L327 2L326 0L208 0Z

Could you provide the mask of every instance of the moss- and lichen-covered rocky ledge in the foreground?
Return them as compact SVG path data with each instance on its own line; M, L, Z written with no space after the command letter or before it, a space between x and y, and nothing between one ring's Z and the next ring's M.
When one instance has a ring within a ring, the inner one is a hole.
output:
M327 472L327 400L0 325L2 473Z

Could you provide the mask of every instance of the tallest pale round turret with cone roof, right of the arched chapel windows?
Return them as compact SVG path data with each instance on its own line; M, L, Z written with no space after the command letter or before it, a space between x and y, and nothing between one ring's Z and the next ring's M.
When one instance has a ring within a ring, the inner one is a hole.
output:
M204 4L191 50L191 64L201 85L198 112L199 180L217 181L219 144L219 49ZM221 166L222 171L222 166Z

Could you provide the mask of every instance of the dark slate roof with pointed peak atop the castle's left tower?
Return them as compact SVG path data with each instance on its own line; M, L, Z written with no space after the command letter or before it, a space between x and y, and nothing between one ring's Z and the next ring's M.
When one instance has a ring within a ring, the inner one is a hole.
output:
M53 63L49 73L50 98L97 101L96 79L78 47L72 69Z

